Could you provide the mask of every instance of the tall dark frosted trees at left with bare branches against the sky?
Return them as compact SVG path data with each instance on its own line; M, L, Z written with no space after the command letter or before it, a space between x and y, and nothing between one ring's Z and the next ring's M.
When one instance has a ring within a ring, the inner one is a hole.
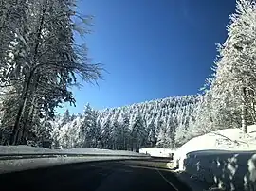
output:
M74 43L74 31L85 34L90 18L73 7L73 0L1 1L2 143L36 139L44 118L53 118L64 102L75 103L70 86L78 77L101 78L99 65L88 62L86 47Z

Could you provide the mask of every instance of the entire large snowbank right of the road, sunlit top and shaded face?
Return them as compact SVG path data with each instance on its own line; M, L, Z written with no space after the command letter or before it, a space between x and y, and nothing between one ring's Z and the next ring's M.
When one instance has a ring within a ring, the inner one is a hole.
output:
M227 190L256 188L256 125L248 133L217 130L198 136L174 153L174 166Z

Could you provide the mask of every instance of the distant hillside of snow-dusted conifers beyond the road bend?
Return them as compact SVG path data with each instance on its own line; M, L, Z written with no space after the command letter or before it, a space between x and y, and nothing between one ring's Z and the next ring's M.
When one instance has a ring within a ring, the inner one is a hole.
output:
M195 124L200 98L176 96L103 111L88 104L82 115L66 111L53 123L53 143L62 148L174 148L188 140L184 133Z

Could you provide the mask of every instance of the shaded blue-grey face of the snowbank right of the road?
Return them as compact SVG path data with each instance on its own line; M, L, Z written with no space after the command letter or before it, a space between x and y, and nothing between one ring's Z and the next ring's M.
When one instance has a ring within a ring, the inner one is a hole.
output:
M187 173L225 190L256 188L256 151L204 150L188 153ZM252 189L255 190L255 189Z

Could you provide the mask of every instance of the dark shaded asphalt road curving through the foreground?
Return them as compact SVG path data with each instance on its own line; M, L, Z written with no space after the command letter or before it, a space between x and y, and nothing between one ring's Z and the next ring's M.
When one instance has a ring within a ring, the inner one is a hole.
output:
M191 189L164 162L127 160L59 165L0 175L1 190L177 191Z

